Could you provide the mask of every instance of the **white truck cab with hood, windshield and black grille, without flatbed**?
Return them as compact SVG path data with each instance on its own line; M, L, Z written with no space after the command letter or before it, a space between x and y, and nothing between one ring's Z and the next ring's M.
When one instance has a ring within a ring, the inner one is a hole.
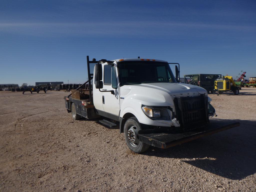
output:
M125 137L129 130L133 133L128 134L128 141L135 140L136 131L143 127L180 127L187 131L209 122L207 91L177 83L166 61L103 60L96 64L94 74L93 103L97 113L121 121L120 132L124 132ZM179 104L185 104L186 111L179 109ZM133 128L127 128L125 122L130 118L142 127L133 124ZM132 146L136 145L138 143Z

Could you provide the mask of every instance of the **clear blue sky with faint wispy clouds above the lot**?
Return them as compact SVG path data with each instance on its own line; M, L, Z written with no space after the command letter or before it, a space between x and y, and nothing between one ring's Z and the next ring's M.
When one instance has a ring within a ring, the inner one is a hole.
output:
M86 56L256 77L256 1L0 2L0 84L83 83Z

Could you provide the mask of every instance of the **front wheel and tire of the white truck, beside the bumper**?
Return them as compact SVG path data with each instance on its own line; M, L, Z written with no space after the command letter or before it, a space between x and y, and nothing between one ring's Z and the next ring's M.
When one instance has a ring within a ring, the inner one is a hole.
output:
M124 138L129 149L135 153L143 153L150 145L138 140L138 131L142 130L136 117L127 119L124 124Z

